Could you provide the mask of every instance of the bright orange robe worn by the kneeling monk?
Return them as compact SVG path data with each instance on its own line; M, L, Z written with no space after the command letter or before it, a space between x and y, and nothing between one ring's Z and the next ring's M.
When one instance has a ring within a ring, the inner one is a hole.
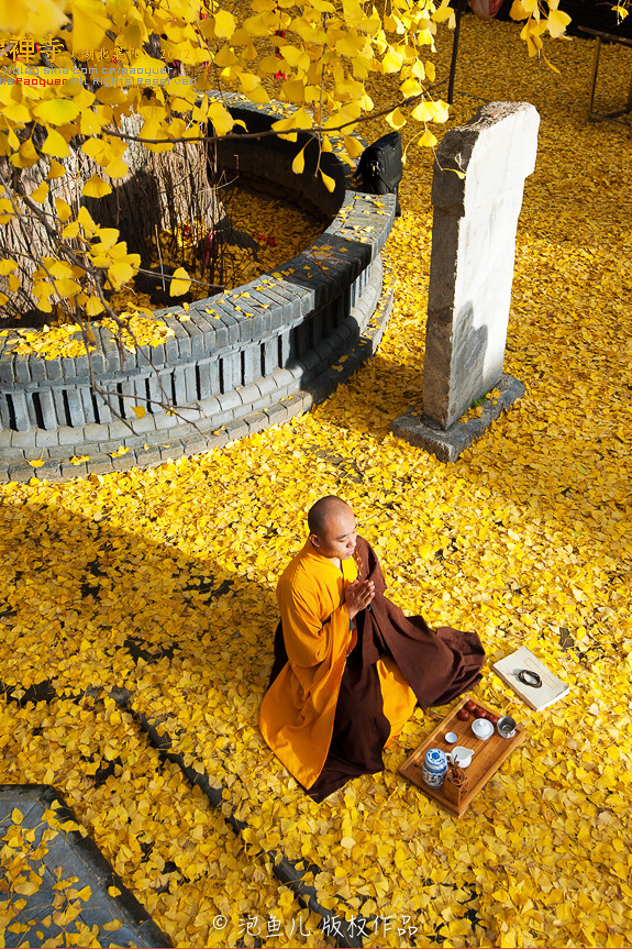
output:
M323 769L347 653L356 642L344 600L356 577L353 558L342 561L341 571L308 540L277 586L288 662L264 697L259 728L306 788ZM412 715L417 697L390 656L377 662L377 671L391 740Z

